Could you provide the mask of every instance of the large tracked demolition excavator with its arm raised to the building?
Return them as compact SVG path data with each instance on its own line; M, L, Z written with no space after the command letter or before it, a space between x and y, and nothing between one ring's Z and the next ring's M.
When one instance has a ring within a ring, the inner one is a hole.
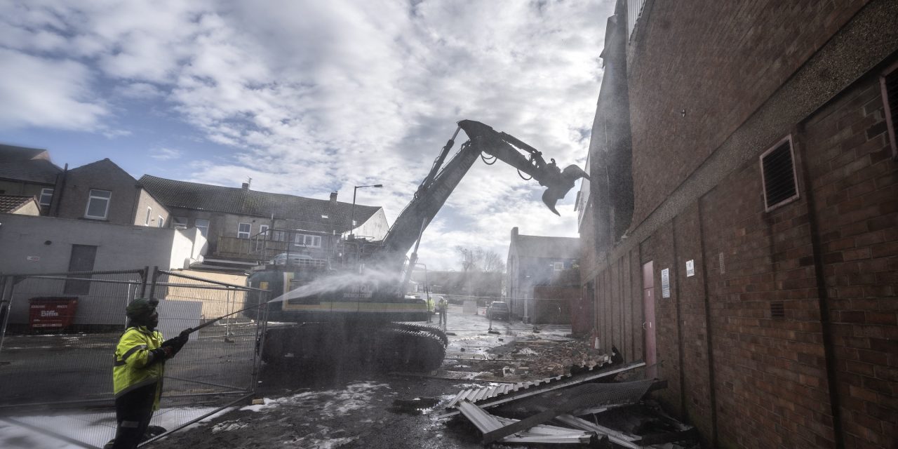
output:
M450 158L460 131L468 140ZM269 326L260 339L262 360L315 366L340 361L391 371L431 371L442 365L445 332L420 323L430 313L427 304L404 292L422 233L478 158L488 164L501 160L522 178L537 180L546 187L542 202L556 215L559 199L575 181L587 178L577 165L561 170L554 159L547 163L541 152L514 136L478 121L458 122L382 241L348 234L331 260L265 264L251 272L249 286L269 291L271 300L266 304ZM244 306L259 306L260 298L247 295Z

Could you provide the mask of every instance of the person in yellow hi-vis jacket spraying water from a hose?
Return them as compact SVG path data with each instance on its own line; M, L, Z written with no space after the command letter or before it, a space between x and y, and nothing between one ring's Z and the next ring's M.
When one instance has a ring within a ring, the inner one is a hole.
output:
M137 298L128 304L128 327L119 338L112 365L115 415L118 427L112 449L133 449L144 440L146 428L159 409L165 361L178 354L189 334L163 341L156 330L158 300Z

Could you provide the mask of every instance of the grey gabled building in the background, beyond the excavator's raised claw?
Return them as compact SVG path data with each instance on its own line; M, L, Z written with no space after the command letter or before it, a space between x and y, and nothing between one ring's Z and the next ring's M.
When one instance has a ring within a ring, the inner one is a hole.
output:
M525 322L533 320L537 310L534 287L557 285L567 269L575 269L580 257L580 243L576 237L544 237L524 235L518 228L511 230L508 246L506 288L512 315ZM577 294L579 297L579 294Z

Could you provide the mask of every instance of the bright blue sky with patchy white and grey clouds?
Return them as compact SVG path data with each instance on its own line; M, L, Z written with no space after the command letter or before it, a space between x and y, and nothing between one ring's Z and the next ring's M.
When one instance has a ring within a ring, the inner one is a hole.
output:
M612 0L0 0L0 143L74 168L384 208L409 203L462 119L585 168ZM465 140L463 132L454 149ZM507 255L511 229L577 237L577 188L478 162L425 232Z

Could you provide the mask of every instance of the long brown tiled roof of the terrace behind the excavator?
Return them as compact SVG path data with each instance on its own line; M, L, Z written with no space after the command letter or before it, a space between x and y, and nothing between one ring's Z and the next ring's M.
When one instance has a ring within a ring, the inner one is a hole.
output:
M221 187L183 180L166 180L145 174L138 180L166 207L223 212L239 216L283 218L306 222L309 231L347 231L352 204L251 189ZM356 222L363 223L381 207L356 205ZM322 216L327 216L323 218Z

